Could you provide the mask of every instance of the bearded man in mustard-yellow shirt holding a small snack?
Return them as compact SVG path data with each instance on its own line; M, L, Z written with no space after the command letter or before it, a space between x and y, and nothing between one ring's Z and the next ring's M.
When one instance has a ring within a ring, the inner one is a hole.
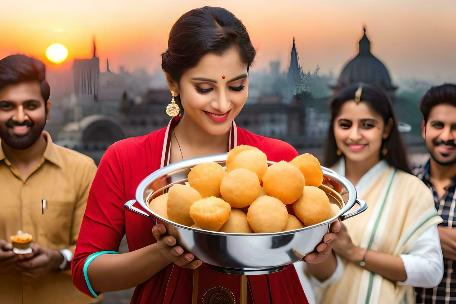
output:
M71 281L70 262L97 167L43 131L50 88L37 59L0 60L0 302L91 303ZM18 230L30 254L12 251Z

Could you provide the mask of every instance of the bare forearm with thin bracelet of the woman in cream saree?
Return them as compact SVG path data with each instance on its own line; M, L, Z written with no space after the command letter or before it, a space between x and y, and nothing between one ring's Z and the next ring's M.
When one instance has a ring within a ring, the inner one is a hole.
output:
M357 264L363 261L365 257L364 268L366 270L377 273L390 281L404 282L407 279L404 261L401 257L373 250L366 252L366 249L360 247L354 247L350 253L342 253L342 256L350 262Z

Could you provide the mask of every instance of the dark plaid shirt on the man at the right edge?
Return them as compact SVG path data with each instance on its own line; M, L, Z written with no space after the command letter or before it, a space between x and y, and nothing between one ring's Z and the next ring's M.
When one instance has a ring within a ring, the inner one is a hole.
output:
M430 182L429 175L430 161L412 170L413 174L429 187L434 195L435 208L443 219L441 226L456 227L456 175L453 177L453 183L445 188L445 195L439 200L437 191ZM437 304L456 304L456 261L443 259L443 279L439 286L424 289L416 288L416 303L437 303Z

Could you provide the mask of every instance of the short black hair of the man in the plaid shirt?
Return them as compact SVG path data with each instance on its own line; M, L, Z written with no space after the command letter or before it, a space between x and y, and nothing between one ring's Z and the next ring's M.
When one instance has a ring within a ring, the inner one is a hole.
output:
M420 101L420 111L427 123L429 113L436 105L450 104L456 107L456 84L444 83L430 88Z

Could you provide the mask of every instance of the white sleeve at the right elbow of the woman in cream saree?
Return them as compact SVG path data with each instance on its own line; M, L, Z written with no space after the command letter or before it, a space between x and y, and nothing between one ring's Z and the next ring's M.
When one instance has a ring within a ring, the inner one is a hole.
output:
M443 256L437 225L427 228L401 254L407 279L399 285L433 288L443 277Z

